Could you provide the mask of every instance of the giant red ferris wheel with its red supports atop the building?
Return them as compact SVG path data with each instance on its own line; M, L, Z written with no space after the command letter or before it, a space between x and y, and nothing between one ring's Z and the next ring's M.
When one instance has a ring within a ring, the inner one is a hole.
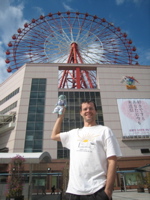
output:
M78 64L135 65L138 55L132 40L119 27L88 13L58 12L25 23L12 36L6 51L7 71L25 63L73 63L59 71L59 88L95 88L94 70Z

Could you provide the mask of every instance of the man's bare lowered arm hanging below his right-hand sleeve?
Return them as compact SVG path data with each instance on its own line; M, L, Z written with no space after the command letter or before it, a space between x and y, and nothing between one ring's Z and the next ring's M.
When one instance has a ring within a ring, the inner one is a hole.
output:
M115 177L116 177L117 157L111 156L107 158L107 161L108 161L108 171L107 171L105 193L111 199L113 188L114 188Z

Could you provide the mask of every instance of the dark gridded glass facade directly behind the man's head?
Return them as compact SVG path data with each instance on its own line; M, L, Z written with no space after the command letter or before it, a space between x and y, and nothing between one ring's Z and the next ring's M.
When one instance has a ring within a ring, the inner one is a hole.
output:
M103 125L103 113L100 92L93 91L60 91L58 95L64 94L67 98L67 109L62 124L61 132L69 131L73 128L83 127L83 120L80 116L80 103L83 100L93 100L97 106L97 124ZM57 146L57 158L69 158L69 150L63 148L61 142Z

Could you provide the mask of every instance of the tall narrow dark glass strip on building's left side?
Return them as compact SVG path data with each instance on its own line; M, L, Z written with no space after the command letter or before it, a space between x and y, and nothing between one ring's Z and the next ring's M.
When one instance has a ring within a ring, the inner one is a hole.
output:
M24 152L41 152L43 146L46 79L32 79Z

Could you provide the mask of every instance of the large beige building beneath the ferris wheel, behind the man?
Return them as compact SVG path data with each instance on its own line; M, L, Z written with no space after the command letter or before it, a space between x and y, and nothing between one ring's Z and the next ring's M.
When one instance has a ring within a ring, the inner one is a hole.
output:
M58 96L65 94L68 105L62 130L82 127L79 104L90 98L98 106L97 122L109 126L119 141L123 157L118 160L117 170L127 172L126 185L136 185L136 173L131 170L150 164L150 66L78 64L81 69L95 70L97 86L58 89L58 71L74 65L25 64L0 85L1 152L49 152L52 163L35 165L34 172L64 175L69 151L50 139L57 118L53 109ZM6 172L6 165L0 166L1 173ZM39 179L45 184L43 177L35 177L35 185ZM120 187L119 178L116 188ZM60 181L53 176L47 189L53 184L62 187Z

